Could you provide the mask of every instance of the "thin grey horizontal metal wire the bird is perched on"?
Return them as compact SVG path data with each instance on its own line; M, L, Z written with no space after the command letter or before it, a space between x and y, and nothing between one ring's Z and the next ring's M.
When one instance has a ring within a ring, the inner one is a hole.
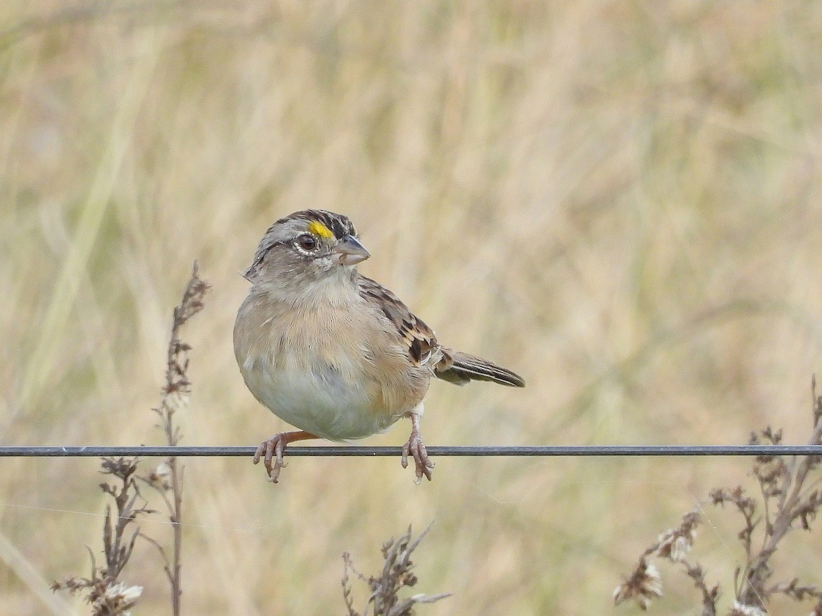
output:
M432 446L431 456L822 456L822 445L513 445ZM0 447L0 457L251 456L256 447ZM289 447L293 456L399 456L399 447Z

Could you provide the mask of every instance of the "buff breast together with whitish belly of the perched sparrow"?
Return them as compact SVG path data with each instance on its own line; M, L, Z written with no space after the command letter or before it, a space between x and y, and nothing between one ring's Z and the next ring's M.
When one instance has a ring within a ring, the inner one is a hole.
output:
M326 439L386 430L409 408L374 363L380 352L362 312L243 306L234 351L249 390L284 421Z

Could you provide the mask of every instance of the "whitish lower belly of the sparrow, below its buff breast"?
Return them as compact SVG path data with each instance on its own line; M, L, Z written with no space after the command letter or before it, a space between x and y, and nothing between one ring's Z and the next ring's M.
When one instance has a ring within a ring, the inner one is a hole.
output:
M241 365L242 376L255 398L276 416L316 436L331 440L362 439L386 430L401 414L376 406L364 375L344 377L343 371L322 361L269 361ZM304 359L304 358L303 358Z

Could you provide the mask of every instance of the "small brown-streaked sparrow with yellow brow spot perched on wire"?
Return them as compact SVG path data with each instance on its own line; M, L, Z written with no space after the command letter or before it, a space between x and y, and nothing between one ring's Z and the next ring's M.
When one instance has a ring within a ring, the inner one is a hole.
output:
M234 324L234 355L254 397L298 428L264 440L262 459L277 483L286 445L348 441L411 421L401 463L413 457L417 483L433 462L420 434L432 378L524 387L511 370L443 347L434 330L380 283L359 274L370 253L349 218L307 209L280 218L242 274L251 283Z

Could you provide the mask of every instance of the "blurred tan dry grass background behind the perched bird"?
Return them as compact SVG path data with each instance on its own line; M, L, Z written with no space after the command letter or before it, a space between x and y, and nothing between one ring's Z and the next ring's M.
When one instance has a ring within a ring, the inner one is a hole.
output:
M820 44L822 4L791 0L2 2L2 444L162 442L195 258L213 290L184 333L183 443L280 430L234 364L238 271L309 206L353 218L363 271L442 341L528 381L433 384L428 444L738 444L769 423L801 442ZM455 596L421 614L607 614L641 549L748 463L448 458L419 486L389 458L295 458L279 485L185 466L188 614L341 614L343 551L368 572L432 520L418 591ZM97 471L0 463L2 614L82 613L46 588L99 546ZM709 579L732 575L730 521ZM784 562L819 582L819 540L795 539ZM155 554L135 559L135 613L165 613ZM658 613L693 596L670 583Z

